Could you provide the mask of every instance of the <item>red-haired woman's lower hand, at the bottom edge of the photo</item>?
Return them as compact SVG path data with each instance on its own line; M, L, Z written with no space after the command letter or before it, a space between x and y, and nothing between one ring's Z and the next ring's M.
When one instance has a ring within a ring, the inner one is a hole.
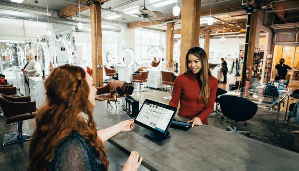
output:
M138 152L131 152L129 159L123 164L121 171L136 171L140 166L142 157L139 159Z

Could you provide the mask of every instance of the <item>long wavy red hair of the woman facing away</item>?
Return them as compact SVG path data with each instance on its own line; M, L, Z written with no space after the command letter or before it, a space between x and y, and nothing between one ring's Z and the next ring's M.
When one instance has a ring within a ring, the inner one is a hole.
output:
M46 103L36 115L36 129L30 140L28 171L47 171L59 141L76 131L93 147L108 170L102 151L107 151L97 136L89 101L89 85L86 73L79 66L63 65L55 68L45 80ZM83 112L88 119L83 118Z

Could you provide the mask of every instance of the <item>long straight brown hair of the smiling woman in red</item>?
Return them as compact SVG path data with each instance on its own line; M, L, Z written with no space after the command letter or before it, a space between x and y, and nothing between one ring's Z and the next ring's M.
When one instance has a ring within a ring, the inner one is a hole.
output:
M211 72L208 64L208 56L205 50L200 47L193 47L189 49L185 59L186 74L192 73L192 71L188 67L189 54L195 55L198 58L198 60L202 63L202 68L196 74L196 79L198 80L198 84L200 87L198 103L203 102L205 106L208 107L209 99L210 99L210 79L211 79Z

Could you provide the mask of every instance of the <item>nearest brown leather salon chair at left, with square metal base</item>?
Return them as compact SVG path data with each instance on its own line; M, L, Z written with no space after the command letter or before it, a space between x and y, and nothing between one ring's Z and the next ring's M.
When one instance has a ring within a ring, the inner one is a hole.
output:
M22 124L24 120L35 118L36 102L31 102L30 96L10 97L0 93L0 106L6 123L3 127L11 123L17 125L17 132L4 135L3 146L30 140L33 129L23 132Z

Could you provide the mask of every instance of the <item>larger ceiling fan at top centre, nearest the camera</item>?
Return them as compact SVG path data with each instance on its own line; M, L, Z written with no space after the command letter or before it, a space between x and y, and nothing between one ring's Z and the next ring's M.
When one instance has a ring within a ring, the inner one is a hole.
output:
M167 15L164 13L161 13L159 11L150 11L145 8L145 0L144 0L144 8L139 9L139 11L142 14L139 14L138 17L142 17L141 21L142 22L151 22L155 20L161 20L161 19L166 19Z

